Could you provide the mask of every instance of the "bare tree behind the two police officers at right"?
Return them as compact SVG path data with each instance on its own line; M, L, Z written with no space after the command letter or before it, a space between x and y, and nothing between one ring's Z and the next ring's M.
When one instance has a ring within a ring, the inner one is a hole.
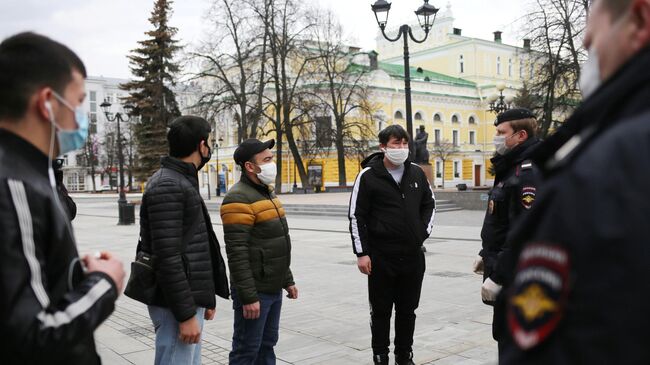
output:
M582 38L588 0L534 0L524 30L531 39L530 93L538 96L533 110L541 111L540 132L548 134L558 114L572 111L580 99L580 66L586 57Z

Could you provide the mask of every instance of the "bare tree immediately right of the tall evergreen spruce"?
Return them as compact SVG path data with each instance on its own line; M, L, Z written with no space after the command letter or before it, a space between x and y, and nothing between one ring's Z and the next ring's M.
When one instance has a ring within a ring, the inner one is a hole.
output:
M256 138L262 116L268 34L264 19L268 7L257 18L250 2L213 0L206 19L212 22L207 40L190 57L199 62L193 78L209 82L197 107L207 119L230 111L237 122L237 141Z

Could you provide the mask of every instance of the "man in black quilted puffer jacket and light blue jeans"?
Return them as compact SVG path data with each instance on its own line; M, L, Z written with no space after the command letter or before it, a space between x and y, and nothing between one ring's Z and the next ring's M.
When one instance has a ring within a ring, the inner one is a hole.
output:
M214 318L215 293L229 296L219 242L199 194L197 172L210 161L210 139L205 119L174 120L167 133L169 156L142 197L140 240L153 254L160 289L149 305L156 364L200 364L203 320Z

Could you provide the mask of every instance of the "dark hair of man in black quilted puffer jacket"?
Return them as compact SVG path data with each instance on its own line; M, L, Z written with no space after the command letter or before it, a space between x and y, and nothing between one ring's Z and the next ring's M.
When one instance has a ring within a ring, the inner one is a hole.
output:
M183 158L199 148L201 141L208 141L210 123L201 117L185 115L174 119L167 132L169 155ZM209 146L208 146L209 147Z

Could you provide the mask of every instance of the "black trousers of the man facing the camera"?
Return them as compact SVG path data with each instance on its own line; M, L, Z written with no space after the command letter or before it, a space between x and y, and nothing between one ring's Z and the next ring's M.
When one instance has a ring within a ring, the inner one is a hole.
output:
M415 309L420 303L426 268L424 254L408 256L373 254L368 276L370 330L374 355L388 354L390 318L395 305L395 353L412 351Z

